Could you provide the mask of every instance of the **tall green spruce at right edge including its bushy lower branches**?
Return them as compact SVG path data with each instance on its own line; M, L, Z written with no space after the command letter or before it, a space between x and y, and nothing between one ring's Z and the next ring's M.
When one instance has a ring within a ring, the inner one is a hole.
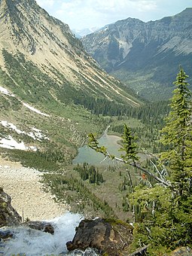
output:
M168 172L169 186L137 188L130 200L144 212L136 242L151 243L149 254L161 254L182 245L192 245L192 94L180 67L173 90L171 110L161 131L166 152L160 155ZM150 205L154 204L150 209ZM149 215L149 212L150 215ZM138 243L136 243L138 245ZM151 251L150 251L151 250Z

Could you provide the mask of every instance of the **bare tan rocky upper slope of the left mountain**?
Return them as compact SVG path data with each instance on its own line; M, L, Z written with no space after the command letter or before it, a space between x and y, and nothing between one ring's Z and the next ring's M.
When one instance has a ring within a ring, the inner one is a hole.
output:
M118 81L99 70L96 62L84 52L81 41L69 26L50 17L34 0L2 0L0 22L1 66L11 78L11 64L18 60L28 72L25 75L31 75L30 69L37 69L56 83L57 88L38 85L47 87L50 97L57 98L58 93L66 93L71 86L74 91L84 90L93 96L128 100ZM20 85L14 82L17 87Z

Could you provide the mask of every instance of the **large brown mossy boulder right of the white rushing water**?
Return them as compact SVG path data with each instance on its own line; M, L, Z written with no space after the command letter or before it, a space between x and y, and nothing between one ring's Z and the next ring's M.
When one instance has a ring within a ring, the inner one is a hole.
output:
M66 245L69 251L90 247L110 256L127 255L133 240L132 232L133 227L122 221L102 218L83 220L77 227L74 239Z

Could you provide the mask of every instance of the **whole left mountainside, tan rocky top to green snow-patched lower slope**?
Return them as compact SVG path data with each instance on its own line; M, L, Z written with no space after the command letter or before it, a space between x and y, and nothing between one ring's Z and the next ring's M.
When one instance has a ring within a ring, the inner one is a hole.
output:
M0 1L0 98L1 147L59 145L59 152L44 158L59 154L60 162L63 157L70 162L90 130L107 125L91 114L96 105L96 114L103 114L141 104L132 90L99 69L68 25L34 0Z

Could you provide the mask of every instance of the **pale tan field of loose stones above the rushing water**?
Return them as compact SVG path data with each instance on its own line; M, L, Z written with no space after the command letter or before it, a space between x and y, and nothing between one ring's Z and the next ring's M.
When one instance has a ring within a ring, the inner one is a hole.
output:
M69 206L56 203L50 191L44 190L41 182L42 172L0 157L0 173L0 188L2 187L4 192L10 196L7 197L7 202L11 203L11 206L24 220L48 220L69 210ZM0 203L0 208L1 206L3 204Z

